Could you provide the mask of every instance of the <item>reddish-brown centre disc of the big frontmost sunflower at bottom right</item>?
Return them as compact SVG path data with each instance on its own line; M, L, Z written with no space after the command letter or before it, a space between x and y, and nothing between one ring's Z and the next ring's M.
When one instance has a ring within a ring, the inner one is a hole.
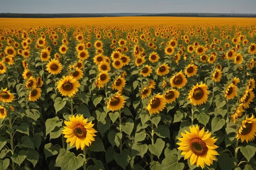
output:
M197 156L202 156L207 153L208 148L204 141L202 141L199 138L194 138L190 141L189 147L191 151L197 155Z

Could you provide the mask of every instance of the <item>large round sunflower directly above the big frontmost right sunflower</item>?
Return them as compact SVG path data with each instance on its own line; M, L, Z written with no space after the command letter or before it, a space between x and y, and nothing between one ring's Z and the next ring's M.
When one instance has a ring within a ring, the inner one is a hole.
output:
M206 103L208 99L208 95L210 94L207 90L208 86L206 84L198 84L193 86L193 88L189 91L189 96L187 99L190 100L190 103L194 106Z

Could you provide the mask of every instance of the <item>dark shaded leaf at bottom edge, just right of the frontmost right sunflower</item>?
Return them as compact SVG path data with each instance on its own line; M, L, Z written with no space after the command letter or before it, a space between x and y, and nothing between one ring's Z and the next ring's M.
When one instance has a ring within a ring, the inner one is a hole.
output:
M234 157L229 157L227 153L222 153L218 156L218 164L221 170L232 170L235 167L237 159Z

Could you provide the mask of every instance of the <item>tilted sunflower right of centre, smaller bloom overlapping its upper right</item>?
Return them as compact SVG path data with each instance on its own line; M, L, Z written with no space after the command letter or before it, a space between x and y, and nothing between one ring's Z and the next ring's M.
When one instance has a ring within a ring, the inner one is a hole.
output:
M160 93L158 93L150 99L146 109L148 110L149 114L152 115L162 111L165 108L165 105L166 100L164 98L164 95L160 95Z

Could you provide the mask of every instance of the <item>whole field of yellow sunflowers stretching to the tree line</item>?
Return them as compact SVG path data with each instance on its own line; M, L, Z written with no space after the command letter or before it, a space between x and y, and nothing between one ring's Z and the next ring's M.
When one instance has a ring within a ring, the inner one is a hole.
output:
M0 170L256 170L256 19L0 19Z

